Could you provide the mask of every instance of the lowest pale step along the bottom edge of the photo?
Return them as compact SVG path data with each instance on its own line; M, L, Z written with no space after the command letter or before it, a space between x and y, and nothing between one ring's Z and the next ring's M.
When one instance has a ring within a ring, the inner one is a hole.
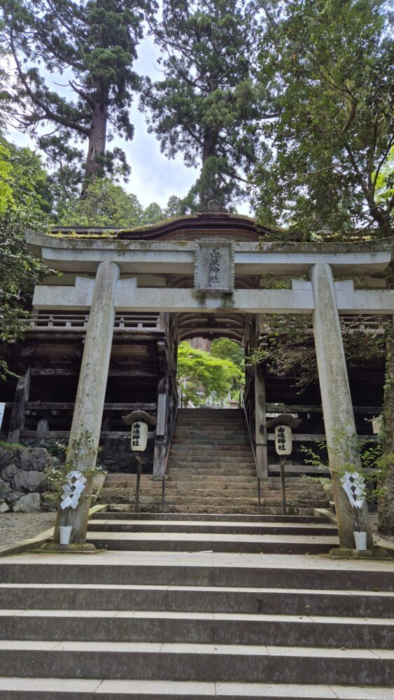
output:
M393 700L393 688L76 678L0 678L2 700Z

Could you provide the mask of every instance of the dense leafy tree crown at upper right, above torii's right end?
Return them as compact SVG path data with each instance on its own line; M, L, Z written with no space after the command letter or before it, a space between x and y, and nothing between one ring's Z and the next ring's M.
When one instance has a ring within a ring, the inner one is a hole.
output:
M262 80L280 117L254 176L258 215L304 232L392 235L394 43L382 0L287 0L264 8ZM382 176L386 175L384 195ZM390 191L391 189L391 191ZM388 196L390 195L390 196Z

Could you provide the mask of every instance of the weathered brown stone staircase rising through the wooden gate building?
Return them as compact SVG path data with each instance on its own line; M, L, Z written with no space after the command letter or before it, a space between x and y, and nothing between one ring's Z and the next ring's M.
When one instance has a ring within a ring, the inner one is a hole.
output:
M109 474L100 494L111 507L134 504L136 476ZM162 479L141 477L141 511L162 510ZM288 513L313 515L327 507L318 479L286 479ZM278 478L261 481L263 514L281 514ZM178 411L165 482L166 512L257 513L258 480L243 412L235 409Z

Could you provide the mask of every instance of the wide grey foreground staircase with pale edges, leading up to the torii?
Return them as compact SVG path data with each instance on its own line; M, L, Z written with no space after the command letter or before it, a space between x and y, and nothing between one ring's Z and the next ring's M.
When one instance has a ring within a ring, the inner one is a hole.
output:
M1 700L393 700L394 564L321 556L328 520L103 512L88 539L0 560Z

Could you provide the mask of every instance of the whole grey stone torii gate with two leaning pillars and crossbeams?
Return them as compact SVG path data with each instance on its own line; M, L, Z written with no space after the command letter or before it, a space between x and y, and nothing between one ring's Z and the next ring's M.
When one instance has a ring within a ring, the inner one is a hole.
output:
M27 244L48 267L77 274L73 286L36 286L34 309L90 312L69 442L74 468L80 471L92 470L96 461L115 312L311 314L339 540L341 547L354 547L355 515L339 479L343 454L355 470L360 468L360 458L354 447L356 426L339 314L394 314L393 290L355 290L353 286L356 277L381 273L388 266L393 241L277 244L204 237L190 242L147 242L28 232ZM139 287L141 274L177 273L194 279L194 286ZM237 288L235 280L246 274L290 275L293 279L290 289ZM89 478L87 498L68 514L68 524L73 526L71 542L81 546L91 490ZM57 526L64 524L64 517L59 512ZM358 521L372 547L366 505ZM56 529L55 540L57 536Z

